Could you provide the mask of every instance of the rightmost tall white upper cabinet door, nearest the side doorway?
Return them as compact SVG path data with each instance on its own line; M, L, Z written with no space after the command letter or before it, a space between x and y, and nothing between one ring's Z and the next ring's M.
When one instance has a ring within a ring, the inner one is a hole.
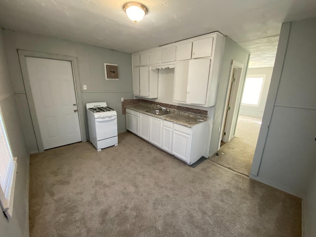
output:
M187 103L200 105L206 103L209 69L210 59L190 60Z

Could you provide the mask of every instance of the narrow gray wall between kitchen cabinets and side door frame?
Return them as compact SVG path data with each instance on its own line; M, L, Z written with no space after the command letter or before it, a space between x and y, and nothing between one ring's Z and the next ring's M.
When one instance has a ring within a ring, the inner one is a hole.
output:
M226 38L225 41L225 49L223 55L223 64L218 84L217 96L216 96L216 106L214 112L214 121L213 128L211 133L211 142L210 142L210 150L209 156L213 156L218 151L218 145L221 141L220 132L218 132L218 128L222 129L222 120L224 116L224 109L226 105L226 95L227 88L229 85L230 79L230 70L232 66L232 60L235 60L239 63L242 63L244 68L241 75L241 80L239 84L239 88L242 88L243 82L246 75L246 69L248 67L249 60L249 52L240 47L234 40L230 38ZM237 95L237 102L241 99L241 90L239 90Z

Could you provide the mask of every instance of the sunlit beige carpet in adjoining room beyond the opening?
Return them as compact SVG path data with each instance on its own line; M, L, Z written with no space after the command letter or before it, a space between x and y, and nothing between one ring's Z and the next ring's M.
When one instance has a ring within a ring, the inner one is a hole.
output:
M229 169L249 175L257 145L261 118L239 116L235 138L221 146L210 159Z

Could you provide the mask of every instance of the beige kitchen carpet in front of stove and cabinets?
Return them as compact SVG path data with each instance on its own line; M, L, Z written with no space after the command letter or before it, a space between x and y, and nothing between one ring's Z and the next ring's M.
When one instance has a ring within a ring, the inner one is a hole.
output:
M301 199L119 134L32 155L31 237L300 237Z

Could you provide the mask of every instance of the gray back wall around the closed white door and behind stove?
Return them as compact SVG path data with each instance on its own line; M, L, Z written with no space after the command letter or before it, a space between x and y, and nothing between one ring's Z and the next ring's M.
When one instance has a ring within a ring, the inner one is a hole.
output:
M121 97L132 99L131 54L67 40L32 34L4 31L13 91L30 153L38 152L30 111L28 108L17 49L77 57L83 107L89 102L106 101L118 112L118 132L126 131L125 116L121 114ZM118 64L119 80L105 80L104 63ZM87 90L83 90L83 85ZM86 113L85 125L88 139Z

